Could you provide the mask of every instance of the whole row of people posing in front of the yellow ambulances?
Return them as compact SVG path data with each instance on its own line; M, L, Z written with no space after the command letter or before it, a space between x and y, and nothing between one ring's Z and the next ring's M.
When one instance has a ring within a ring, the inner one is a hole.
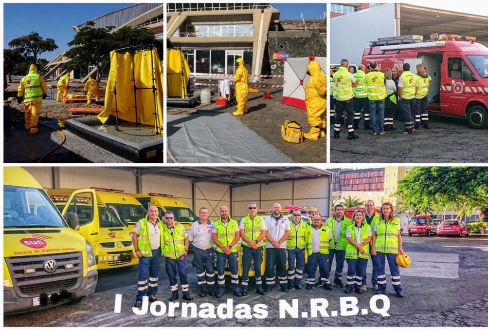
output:
M273 204L273 213L265 218L257 214L255 202L249 202L248 213L241 220L231 218L226 206L220 208L215 222L208 216L208 209L200 208L200 218L188 232L166 211L164 220L158 218L158 208L151 206L145 218L138 221L132 243L139 257L138 293L134 307L142 306L142 297L149 302L158 300L158 278L161 256L165 258L165 270L171 290L170 301L179 298L179 285L183 299L193 300L189 293L186 275L186 256L189 243L193 245L192 265L197 272L200 297L207 295L221 298L225 293L225 269L231 273L230 288L233 295L248 294L249 271L254 263L256 292L265 295L276 285L288 292L302 289L304 271L307 273L305 288L332 289L329 274L335 258L336 269L333 284L344 287L341 279L344 262L348 264L346 293L366 291L366 264L373 263L371 283L373 290L385 293L385 259L388 261L391 280L398 297L403 297L400 272L395 262L397 252L403 252L400 221L393 216L391 203L385 202L381 214L374 212L372 200L366 201L366 213L358 210L353 221L344 216L344 206L336 205L335 215L326 221L315 215L312 223L300 210L285 217L279 203ZM305 219L305 220L304 220ZM242 276L239 284L237 244L242 239ZM261 272L265 250L265 271ZM214 271L216 254L217 278ZM305 257L306 256L306 257ZM306 259L306 262L305 262ZM286 265L288 268L286 269ZM319 268L318 282L315 274ZM264 278L263 278L264 275Z

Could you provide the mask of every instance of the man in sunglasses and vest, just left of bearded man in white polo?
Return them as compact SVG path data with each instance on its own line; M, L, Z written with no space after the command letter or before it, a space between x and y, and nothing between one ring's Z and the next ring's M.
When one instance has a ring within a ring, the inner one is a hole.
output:
M263 263L263 240L264 236L266 235L266 225L264 224L264 219L258 216L255 202L249 202L247 209L247 216L241 219L239 224L241 238L243 239L243 277L241 281L242 295L247 296L249 269L251 268L251 260L253 260L256 292L264 296L266 293L263 290L261 264Z

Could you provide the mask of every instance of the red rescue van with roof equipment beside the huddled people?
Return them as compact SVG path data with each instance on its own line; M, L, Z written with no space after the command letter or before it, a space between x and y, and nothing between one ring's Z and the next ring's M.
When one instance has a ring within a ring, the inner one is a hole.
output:
M402 73L403 64L422 63L432 81L428 92L428 110L464 116L472 128L488 127L488 48L475 43L476 38L459 35L431 35L436 41L415 38L384 38L371 42L364 50L362 64L371 60L378 69L396 67Z

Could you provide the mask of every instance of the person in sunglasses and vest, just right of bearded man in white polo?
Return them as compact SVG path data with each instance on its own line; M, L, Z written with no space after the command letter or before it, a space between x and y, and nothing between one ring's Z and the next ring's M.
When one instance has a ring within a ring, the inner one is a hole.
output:
M302 212L293 210L290 236L286 239L288 249L288 290L302 289L300 281L305 267L305 230L308 225L302 220ZM297 266L295 268L295 260Z

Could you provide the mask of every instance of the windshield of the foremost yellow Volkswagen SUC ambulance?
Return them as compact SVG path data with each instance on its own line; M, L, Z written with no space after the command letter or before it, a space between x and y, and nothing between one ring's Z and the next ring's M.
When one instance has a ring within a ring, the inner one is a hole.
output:
M3 187L3 227L67 227L46 194L35 188Z

